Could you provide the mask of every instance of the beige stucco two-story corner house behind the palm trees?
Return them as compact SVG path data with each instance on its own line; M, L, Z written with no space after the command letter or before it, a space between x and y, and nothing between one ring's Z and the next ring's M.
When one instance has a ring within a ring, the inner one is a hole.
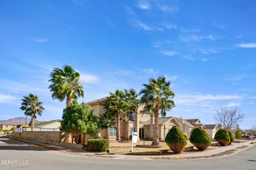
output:
M107 97L101 98L98 100L90 101L86 104L89 104L96 116L105 112L105 101ZM121 118L123 115L121 114ZM192 121L193 123L201 124L199 120ZM140 105L137 111L137 114L131 113L129 118L129 127L125 129L125 121L120 123L121 129L121 139L124 139L125 131L128 131L128 134L131 135L131 132L138 132L139 139L153 139L153 125L154 125L154 116L150 113L143 112L143 106ZM159 118L159 139L164 140L167 132L172 128L172 126L177 126L183 133L186 133L190 137L191 131L195 126L189 121L178 118L178 117L160 117ZM203 125L202 125L203 126ZM204 127L204 126L203 126ZM110 139L116 139L116 127L109 128ZM99 137L106 137L106 130L100 130Z

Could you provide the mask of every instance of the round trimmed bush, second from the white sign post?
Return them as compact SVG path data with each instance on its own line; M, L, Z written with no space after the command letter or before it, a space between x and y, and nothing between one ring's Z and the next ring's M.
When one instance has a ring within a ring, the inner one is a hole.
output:
M209 134L201 127L192 131L189 140L198 150L206 150L212 143Z

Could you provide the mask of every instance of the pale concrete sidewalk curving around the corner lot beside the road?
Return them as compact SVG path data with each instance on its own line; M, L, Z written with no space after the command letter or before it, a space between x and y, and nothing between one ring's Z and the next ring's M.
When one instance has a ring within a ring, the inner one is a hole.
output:
M61 146L49 145L49 144L31 141L31 140L24 140L24 139L18 139L18 138L13 138L13 139L21 142L31 143L37 146L47 147L49 149L52 148L52 150L58 150L61 152L65 152L66 154L75 154L80 156L101 157L101 158L103 157L103 158L112 158L112 159L133 159L133 160L134 159L136 160L182 159L182 158L183 159L190 159L190 158L202 159L204 157L211 158L213 157L213 155L220 155L218 157L223 157L223 156L234 155L237 152L250 148L254 145L254 144L251 144L252 141L247 141L244 143L232 143L232 145L226 146L226 147L210 147L213 149L200 151L200 152L192 152L191 154L150 155L150 156L141 155L140 156L140 155L121 155L121 154L106 154L101 152L89 152L86 150L69 149ZM246 147L238 148L243 146L246 146ZM227 155L221 155L222 152L226 152L229 150L234 150L235 152ZM214 157L217 157L217 156L214 156Z

